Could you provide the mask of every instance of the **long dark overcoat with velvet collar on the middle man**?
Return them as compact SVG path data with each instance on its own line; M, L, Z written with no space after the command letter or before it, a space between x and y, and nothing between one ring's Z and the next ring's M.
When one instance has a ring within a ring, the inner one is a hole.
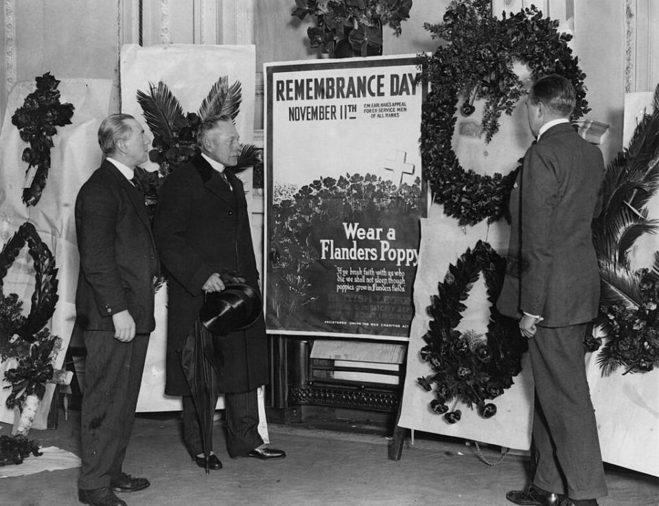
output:
M203 156L167 176L154 219L154 237L170 273L165 394L189 395L178 348L204 302L202 287L214 272L235 272L259 290L242 182L225 171L233 191ZM220 391L248 391L268 383L265 324L220 338Z

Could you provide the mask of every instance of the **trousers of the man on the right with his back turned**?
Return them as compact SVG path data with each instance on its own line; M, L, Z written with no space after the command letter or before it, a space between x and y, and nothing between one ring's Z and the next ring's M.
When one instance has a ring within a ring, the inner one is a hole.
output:
M537 327L529 339L535 380L533 484L572 499L607 494L583 360L586 324Z

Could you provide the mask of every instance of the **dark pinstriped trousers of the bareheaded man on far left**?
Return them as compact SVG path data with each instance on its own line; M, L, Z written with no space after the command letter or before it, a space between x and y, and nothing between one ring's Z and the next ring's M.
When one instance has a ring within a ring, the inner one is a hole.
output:
M122 474L126 448L135 422L149 336L138 334L129 343L114 331L87 330L84 346L84 389L80 431L82 471L78 487L108 487Z

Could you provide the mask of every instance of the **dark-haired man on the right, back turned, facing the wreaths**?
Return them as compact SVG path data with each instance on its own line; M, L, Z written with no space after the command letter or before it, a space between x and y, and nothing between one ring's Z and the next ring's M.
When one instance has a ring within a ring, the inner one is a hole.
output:
M599 306L599 271L590 224L601 210L603 160L568 121L573 85L537 80L527 98L537 142L511 192L511 239L498 309L520 318L535 380L533 450L520 505L597 505L607 494L583 359L586 328Z

